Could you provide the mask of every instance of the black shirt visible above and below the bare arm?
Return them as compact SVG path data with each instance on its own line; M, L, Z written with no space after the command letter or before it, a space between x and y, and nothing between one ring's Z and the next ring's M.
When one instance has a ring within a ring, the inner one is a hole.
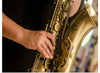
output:
M53 0L3 0L3 12L30 30L44 30L53 9ZM3 37L3 72L27 71L35 55L35 51Z

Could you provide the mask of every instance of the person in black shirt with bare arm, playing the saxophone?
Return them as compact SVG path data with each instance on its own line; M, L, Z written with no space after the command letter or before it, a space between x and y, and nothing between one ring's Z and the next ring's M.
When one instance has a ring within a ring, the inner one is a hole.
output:
M43 31L46 19L52 16L53 2L53 0L3 0L4 72L26 71L34 62L33 57L36 55L34 50L45 58L53 58L54 36ZM77 12L79 6L80 1L76 0L70 17Z

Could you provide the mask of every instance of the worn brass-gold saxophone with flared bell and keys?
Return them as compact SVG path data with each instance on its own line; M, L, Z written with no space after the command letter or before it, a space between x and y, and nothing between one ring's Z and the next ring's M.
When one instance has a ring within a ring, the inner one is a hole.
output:
M82 40L89 31L97 27L98 17L86 1L84 7L68 24L73 2L57 0L51 22L45 28L56 40L53 59L45 59L37 53L32 72L70 72ZM67 16L65 12L68 13Z

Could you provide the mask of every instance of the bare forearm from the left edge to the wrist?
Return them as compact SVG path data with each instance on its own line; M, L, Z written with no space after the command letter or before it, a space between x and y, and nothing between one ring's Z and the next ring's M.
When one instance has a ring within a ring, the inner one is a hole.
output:
M23 36L24 28L2 13L3 36L17 43Z

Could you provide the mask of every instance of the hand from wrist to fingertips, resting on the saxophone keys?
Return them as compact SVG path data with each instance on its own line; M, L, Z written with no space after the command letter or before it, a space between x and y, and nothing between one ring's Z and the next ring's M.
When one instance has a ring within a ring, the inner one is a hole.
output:
M28 48L39 51L45 58L53 58L54 36L45 31L26 30L20 43Z

